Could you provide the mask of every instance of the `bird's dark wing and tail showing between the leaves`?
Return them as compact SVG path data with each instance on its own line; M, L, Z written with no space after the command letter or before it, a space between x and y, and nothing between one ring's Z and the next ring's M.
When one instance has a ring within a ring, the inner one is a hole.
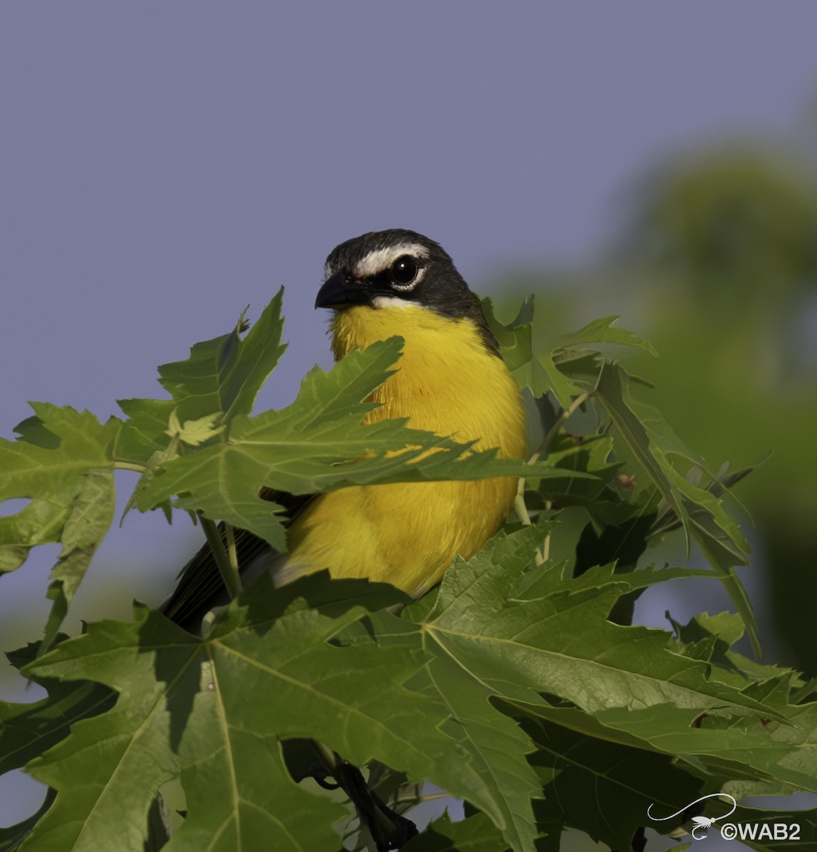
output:
M261 492L264 500L277 503L287 510L287 517L292 521L301 509L314 497L312 494L295 496L282 491L264 488ZM218 525L218 531L224 540L224 526ZM226 547L226 541L225 541ZM271 558L275 551L257 535L246 530L235 530L235 550L238 555L238 567L242 578L246 581L252 577L246 574L253 562L265 555ZM177 625L198 633L203 619L213 607L220 607L229 602L229 595L224 586L216 560L213 558L209 544L203 544L195 556L182 569L179 582L171 592L171 596L159 606L159 612L164 613Z

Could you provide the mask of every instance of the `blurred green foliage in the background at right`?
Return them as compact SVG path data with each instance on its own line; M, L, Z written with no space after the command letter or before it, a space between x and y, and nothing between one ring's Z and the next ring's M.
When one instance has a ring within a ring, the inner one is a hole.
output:
M721 145L642 181L601 261L548 273L553 333L623 314L660 357L628 363L650 401L717 467L762 467L737 494L762 540L775 628L817 674L817 152ZM524 290L523 273L505 288ZM536 289L542 290L542 274ZM553 296L552 296L553 293Z

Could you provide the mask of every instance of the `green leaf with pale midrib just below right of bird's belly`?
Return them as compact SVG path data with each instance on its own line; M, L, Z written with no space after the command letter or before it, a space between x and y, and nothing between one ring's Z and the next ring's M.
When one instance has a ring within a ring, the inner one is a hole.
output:
M540 693L559 695L590 714L666 703L738 717L769 712L710 678L707 665L673 653L665 631L606 620L623 590L637 588L631 579L639 573L608 567L606 581L588 573L576 593L557 582L553 593L540 595L534 585L515 596L519 564L492 554L514 546L526 552L530 534L496 536L470 562L450 567L424 623L429 639L495 694L533 704Z

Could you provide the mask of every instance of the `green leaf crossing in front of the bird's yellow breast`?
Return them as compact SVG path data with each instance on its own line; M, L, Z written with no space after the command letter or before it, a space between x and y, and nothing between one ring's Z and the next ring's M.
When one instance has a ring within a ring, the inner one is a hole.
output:
M374 482L565 476L545 463L497 458L494 450L472 452L470 444L408 429L403 419L362 423L375 407L365 400L391 375L402 345L393 337L351 352L331 371L316 367L292 405L235 417L228 440L171 458L136 495L136 504L151 509L183 494L177 506L201 509L280 549L282 522L258 496L263 487L310 494Z

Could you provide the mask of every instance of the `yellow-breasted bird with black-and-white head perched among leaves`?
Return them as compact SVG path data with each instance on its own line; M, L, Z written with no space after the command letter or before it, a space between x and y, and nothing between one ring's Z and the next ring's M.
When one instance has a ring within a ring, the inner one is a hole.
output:
M478 296L437 242L402 228L346 240L327 256L315 306L333 312L335 360L403 338L397 369L370 397L379 405L364 422L404 417L412 429L524 458L519 386ZM239 531L243 582L269 571L281 585L328 569L333 578L368 578L419 597L455 556L470 559L495 533L517 486L516 478L503 476L345 486L305 497L265 489L264 498L287 508L287 553ZM226 590L205 546L160 610L191 630L223 602Z

